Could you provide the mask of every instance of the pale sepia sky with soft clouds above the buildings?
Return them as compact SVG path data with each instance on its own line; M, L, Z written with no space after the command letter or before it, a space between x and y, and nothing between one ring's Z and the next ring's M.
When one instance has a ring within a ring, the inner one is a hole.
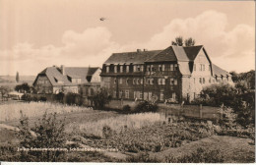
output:
M255 2L0 0L0 75L101 67L112 53L164 49L176 36L193 37L228 72L254 70Z

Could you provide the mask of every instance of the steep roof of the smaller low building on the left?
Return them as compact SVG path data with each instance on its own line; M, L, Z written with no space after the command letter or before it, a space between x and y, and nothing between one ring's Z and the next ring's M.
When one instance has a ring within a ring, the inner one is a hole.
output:
M65 67L65 75L63 75L59 68L48 67L41 71L38 76L46 76L52 85L77 85L78 83L71 83L70 79L78 78L81 79L81 83L88 83L87 77L93 76L98 69L98 67ZM34 82L36 82L37 77Z

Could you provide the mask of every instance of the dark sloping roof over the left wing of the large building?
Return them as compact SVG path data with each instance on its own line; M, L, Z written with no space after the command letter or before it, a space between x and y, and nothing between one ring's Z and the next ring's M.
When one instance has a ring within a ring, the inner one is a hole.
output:
M158 53L160 53L160 50L113 53L104 64L144 64L146 60Z

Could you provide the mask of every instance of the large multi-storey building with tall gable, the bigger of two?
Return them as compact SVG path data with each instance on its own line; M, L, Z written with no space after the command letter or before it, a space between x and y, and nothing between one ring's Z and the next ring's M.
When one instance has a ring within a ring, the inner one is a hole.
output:
M100 86L116 99L191 101L212 83L232 83L204 46L113 53L102 65Z

